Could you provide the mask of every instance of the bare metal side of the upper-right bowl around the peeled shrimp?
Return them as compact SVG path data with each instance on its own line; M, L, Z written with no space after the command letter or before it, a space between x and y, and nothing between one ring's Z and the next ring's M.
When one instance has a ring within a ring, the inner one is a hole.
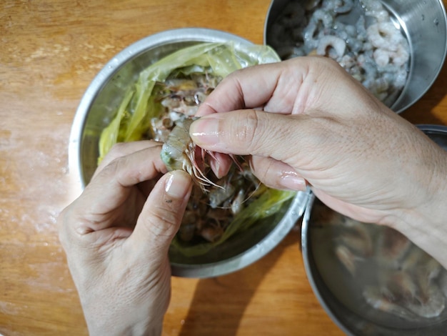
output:
M292 1L271 1L264 26L265 44L275 48L275 41L269 38L271 26ZM295 2L306 3L304 0ZM390 105L394 112L401 113L427 92L441 71L447 51L446 10L441 0L381 0L381 3L391 13L395 20L393 23L400 26L410 45L406 84Z

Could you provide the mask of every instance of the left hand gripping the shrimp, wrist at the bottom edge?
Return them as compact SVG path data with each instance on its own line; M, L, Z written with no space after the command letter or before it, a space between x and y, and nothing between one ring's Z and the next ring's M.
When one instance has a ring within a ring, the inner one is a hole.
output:
M161 145L119 144L58 219L91 335L159 335L171 295L168 249L191 193L164 174Z

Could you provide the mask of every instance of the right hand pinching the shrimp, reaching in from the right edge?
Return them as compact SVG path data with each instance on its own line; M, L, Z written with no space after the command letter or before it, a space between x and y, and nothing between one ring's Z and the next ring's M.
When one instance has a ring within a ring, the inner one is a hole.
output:
M329 207L363 222L446 220L446 205L436 209L447 194L446 152L334 61L298 57L236 71L199 115L193 141L251 155L271 187L310 184Z

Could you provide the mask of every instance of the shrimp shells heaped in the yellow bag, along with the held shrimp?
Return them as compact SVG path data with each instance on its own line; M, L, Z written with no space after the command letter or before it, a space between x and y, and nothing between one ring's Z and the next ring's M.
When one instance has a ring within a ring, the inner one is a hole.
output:
M147 138L164 143L161 158L169 170L183 169L195 182L178 234L184 242L216 242L233 217L265 189L241 158L233 157L230 172L218 179L209 167L214 154L189 137L199 105L219 81L210 74L192 74L158 82L154 89L162 111L151 119Z

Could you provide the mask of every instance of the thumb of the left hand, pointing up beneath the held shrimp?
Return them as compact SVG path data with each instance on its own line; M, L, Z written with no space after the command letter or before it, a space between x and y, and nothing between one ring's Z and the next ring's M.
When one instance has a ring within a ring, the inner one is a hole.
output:
M143 253L152 257L165 257L191 194L191 177L176 170L165 174L154 186L136 221L129 244L136 244Z

